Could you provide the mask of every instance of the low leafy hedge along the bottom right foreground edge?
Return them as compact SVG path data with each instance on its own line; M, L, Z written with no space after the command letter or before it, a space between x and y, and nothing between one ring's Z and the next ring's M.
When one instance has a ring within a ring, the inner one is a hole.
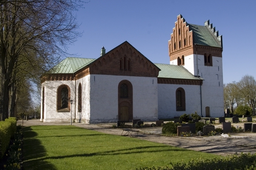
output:
M140 167L136 170L214 170L214 169L226 169L226 170L252 170L256 169L256 154L234 154L224 158L214 159L193 159L189 162L179 162L176 164L170 163L170 166L163 167Z

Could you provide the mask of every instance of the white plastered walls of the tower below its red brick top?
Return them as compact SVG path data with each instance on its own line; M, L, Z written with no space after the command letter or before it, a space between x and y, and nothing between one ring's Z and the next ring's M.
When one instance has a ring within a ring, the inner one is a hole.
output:
M170 61L177 65L177 60ZM212 56L212 66L204 65L203 55L185 56L184 67L195 76L204 79L202 85L202 114L206 115L205 107L210 107L211 117L224 116L223 68L222 58Z

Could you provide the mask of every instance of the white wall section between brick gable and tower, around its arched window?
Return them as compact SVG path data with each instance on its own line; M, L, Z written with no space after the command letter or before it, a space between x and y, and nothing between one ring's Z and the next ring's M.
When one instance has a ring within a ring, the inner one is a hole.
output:
M185 111L176 111L176 90L183 88L185 91ZM158 84L158 118L173 118L184 113L191 114L197 111L201 116L200 86Z

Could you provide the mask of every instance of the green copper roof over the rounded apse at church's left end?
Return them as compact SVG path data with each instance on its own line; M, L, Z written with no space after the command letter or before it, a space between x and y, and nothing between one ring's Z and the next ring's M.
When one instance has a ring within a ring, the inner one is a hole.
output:
M67 57L52 69L52 74L73 74L96 59Z

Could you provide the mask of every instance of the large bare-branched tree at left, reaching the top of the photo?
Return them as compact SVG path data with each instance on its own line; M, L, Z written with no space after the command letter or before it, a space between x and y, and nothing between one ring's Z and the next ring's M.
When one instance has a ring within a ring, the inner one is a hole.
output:
M27 62L26 69L35 76L65 56L67 45L80 36L75 31L78 25L73 11L81 5L79 0L1 1L0 120L10 115L10 103L16 103L19 85L16 74L21 69L21 61ZM37 71L31 72L34 68Z

